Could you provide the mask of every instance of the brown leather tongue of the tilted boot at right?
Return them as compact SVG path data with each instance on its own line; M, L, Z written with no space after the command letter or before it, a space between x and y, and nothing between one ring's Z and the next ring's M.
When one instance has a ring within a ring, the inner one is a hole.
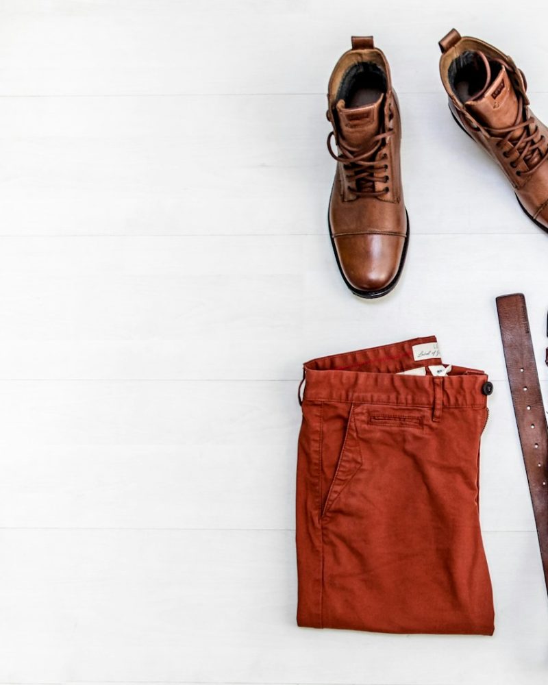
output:
M487 69L486 84L479 97L465 104L466 109L477 121L490 128L507 128L516 123L518 99L503 64L494 78L491 76L490 69ZM520 134L521 131L518 130L512 133L510 138L519 138Z

